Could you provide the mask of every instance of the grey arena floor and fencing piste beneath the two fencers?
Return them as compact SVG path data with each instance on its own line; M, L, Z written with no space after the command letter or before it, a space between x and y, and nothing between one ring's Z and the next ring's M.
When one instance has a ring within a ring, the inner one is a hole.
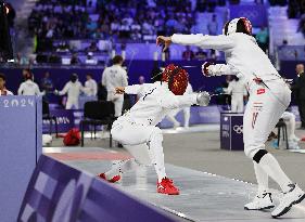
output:
M305 131L296 131L301 138L303 133ZM100 136L102 139L87 139L86 147L61 148L62 139L55 139L52 147L45 152L75 168L97 174L107 170L112 161L128 158L124 149L109 147L109 140L104 139L107 138L106 133ZM126 173L122 183L116 186L167 212L179 214L182 217L179 221L272 221L269 211L243 210L244 203L255 196L255 185L251 184L255 183L252 162L243 152L221 151L218 136L218 126L194 127L188 131L164 130L166 170L168 177L180 187L179 196L156 194L155 173L151 168ZM305 143L300 144L305 148ZM305 154L275 149L270 144L267 144L267 148L275 154L289 177L305 188L305 175L302 174L305 169ZM270 185L278 188L274 182ZM279 195L277 193L276 199ZM281 221L304 219L303 203Z

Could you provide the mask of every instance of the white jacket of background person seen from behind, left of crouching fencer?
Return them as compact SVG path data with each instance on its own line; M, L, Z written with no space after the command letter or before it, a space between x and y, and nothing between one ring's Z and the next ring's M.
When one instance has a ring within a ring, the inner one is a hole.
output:
M102 84L107 92L114 92L116 87L126 87L128 84L126 70L120 65L106 67L103 71Z

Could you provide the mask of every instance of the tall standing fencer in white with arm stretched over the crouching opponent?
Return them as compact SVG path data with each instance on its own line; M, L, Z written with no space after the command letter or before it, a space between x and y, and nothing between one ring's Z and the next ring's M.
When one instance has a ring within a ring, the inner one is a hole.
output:
M234 18L224 27L219 36L173 35L157 37L157 44L166 50L170 43L195 45L202 49L224 51L227 64L203 64L205 76L237 75L250 90L243 117L245 155L253 160L258 183L254 200L244 206L247 210L275 207L268 190L268 178L274 179L284 193L280 204L271 212L274 218L287 213L305 198L305 193L287 177L277 159L265 149L265 142L291 101L291 91L272 66L268 56L252 37L252 25L245 17Z

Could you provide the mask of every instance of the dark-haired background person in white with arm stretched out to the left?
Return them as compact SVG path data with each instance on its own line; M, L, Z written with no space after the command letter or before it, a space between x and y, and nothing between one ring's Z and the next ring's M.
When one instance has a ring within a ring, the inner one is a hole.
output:
M76 74L73 74L71 76L71 80L64 86L62 91L55 91L55 94L59 95L65 95L67 94L67 101L65 108L71 109L74 107L75 109L78 109L78 99L80 92L84 91L84 88L81 83L78 81L78 76Z

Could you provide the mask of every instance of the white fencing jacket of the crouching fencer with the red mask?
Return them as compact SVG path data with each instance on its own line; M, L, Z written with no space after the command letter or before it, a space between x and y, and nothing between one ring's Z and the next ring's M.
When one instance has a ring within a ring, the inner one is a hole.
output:
M134 84L125 88L127 94L140 94L139 101L119 117L144 126L156 126L175 108L191 106L196 103L196 94L175 95L169 91L167 82Z

